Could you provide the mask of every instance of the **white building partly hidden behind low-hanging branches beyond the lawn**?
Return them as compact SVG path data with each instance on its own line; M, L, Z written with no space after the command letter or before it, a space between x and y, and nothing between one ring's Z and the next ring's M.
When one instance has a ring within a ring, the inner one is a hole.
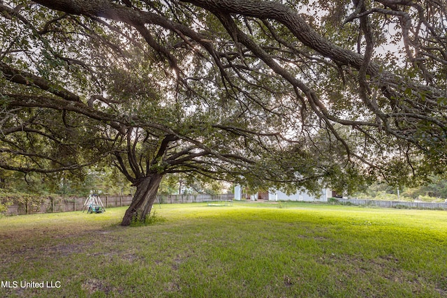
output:
M235 200L242 200L242 187L240 185L235 186ZM328 202L329 198L332 198L332 190L330 188L323 188L321 195L316 197L310 195L306 191L297 191L292 195L286 195L282 191L269 191L268 193L255 193L250 195L250 200L269 200L269 201L301 201L301 202Z

